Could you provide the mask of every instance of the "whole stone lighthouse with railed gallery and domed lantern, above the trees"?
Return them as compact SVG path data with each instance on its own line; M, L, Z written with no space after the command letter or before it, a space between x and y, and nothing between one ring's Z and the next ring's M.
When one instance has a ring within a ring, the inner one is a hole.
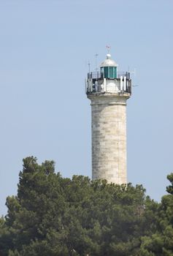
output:
M126 101L131 97L131 78L117 67L108 53L98 72L88 72L85 90L91 100L92 178L126 184Z

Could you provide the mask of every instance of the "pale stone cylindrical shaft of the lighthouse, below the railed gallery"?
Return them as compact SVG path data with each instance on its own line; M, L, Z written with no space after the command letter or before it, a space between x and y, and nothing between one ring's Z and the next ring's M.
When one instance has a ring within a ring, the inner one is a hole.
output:
M126 100L117 94L88 95L92 110L92 176L126 184Z

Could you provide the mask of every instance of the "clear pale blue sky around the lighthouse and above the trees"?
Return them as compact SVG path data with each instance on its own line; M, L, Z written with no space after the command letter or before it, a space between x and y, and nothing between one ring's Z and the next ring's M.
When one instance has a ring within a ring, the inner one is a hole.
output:
M0 0L0 215L22 159L91 177L88 61L111 45L119 71L137 69L128 99L128 181L161 200L173 156L172 0Z

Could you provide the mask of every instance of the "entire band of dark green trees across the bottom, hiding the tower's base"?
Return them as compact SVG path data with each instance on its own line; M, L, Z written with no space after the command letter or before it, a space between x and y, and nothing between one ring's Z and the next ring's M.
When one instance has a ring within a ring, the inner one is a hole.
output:
M53 161L27 157L0 219L0 255L171 256L173 173L168 179L156 203L142 185L63 178Z

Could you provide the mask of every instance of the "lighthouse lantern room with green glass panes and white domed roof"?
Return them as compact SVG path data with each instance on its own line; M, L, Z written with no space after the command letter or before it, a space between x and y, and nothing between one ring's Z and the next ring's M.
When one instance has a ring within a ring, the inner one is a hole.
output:
M117 78L117 67L118 64L111 59L111 55L108 53L107 59L105 59L100 65L101 77L109 79Z

